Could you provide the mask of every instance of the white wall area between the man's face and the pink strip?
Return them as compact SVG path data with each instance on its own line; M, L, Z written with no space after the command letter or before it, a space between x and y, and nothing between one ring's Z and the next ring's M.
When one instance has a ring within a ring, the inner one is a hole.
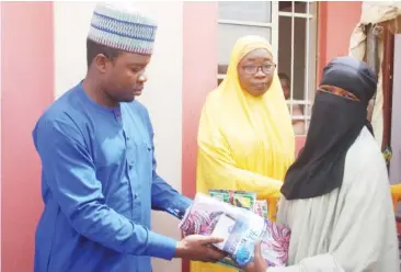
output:
M181 191L183 2L149 1L140 7L158 19L159 29L148 69L149 81L139 100L148 106L152 118L159 173ZM156 231L181 238L179 220L168 214L154 213L152 225ZM153 272L181 271L181 260L153 260Z

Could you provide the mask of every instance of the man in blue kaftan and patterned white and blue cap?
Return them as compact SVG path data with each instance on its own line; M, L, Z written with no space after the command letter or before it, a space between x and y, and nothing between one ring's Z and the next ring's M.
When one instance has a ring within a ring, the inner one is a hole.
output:
M147 80L156 23L118 4L96 5L87 77L38 120L44 212L35 272L150 272L150 258L217 261L217 238L182 241L150 230L151 209L179 218L192 201L157 173L153 128L135 100Z

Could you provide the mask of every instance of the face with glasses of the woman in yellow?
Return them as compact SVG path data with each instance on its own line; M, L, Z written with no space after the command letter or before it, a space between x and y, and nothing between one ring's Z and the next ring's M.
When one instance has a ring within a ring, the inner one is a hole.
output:
M238 77L242 89L253 97L264 94L272 84L276 65L266 49L254 49L238 64Z

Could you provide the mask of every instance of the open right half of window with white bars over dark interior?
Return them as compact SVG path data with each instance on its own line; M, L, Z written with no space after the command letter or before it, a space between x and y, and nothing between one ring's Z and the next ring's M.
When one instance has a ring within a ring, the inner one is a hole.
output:
M305 135L308 129L316 90L316 14L314 2L279 1L278 4L278 72L289 79L284 81L297 135Z

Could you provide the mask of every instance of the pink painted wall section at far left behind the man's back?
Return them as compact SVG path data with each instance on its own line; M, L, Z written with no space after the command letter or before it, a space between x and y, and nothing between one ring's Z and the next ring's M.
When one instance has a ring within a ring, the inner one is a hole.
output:
M42 209L33 126L53 101L53 3L2 2L2 271L33 271Z

